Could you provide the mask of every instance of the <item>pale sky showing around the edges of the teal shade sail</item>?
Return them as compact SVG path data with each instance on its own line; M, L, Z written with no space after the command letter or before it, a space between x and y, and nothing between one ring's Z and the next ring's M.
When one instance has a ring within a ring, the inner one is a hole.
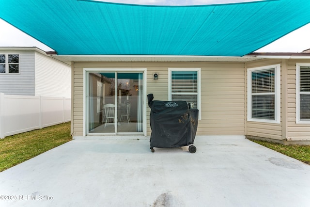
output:
M105 0L101 0L105 1ZM116 3L144 4L144 5L201 5L236 3L256 0L106 0ZM0 47L38 47L45 51L52 51L46 45L31 36L19 31L15 27L0 19ZM301 52L310 48L310 24L295 30L279 40L257 50L256 52Z

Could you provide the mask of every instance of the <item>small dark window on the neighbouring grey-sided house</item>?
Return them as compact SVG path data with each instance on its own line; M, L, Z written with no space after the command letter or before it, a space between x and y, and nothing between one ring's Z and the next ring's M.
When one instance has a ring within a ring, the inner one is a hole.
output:
M18 72L19 72L19 55L0 54L0 74L18 73Z

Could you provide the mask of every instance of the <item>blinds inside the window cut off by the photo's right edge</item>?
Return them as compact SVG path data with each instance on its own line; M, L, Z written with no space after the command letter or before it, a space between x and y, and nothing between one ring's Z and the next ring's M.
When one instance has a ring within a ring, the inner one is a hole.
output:
M310 66L300 67L300 120L310 120Z

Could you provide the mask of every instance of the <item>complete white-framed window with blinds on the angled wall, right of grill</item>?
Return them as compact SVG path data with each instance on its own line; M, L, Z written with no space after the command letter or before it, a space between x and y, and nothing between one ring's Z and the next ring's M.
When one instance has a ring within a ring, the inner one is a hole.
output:
M280 123L280 65L248 68L248 121Z

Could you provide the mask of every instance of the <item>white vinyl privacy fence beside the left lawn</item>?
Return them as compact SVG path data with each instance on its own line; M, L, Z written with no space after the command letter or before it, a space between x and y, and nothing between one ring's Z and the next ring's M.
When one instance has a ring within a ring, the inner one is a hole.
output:
M71 98L0 93L0 138L71 120Z

